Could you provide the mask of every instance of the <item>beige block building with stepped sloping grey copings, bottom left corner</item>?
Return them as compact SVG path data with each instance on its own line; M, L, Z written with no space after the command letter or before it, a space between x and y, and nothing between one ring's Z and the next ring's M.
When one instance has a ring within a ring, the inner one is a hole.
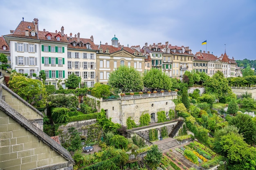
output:
M43 115L0 84L0 169L72 170L70 153L43 132Z

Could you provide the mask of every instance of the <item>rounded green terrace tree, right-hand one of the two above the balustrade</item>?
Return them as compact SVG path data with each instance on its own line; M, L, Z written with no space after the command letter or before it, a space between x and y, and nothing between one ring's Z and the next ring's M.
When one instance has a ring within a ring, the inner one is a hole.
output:
M156 68L151 69L144 73L143 76L144 86L154 89L171 89L172 81L162 70Z

